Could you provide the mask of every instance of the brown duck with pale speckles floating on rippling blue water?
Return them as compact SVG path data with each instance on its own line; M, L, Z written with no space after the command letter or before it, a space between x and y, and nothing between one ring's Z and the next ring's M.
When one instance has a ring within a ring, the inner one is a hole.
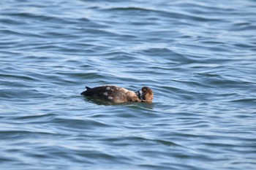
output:
M152 102L154 98L154 93L151 88L143 87L134 92L116 85L102 85L95 88L89 88L86 86L86 90L80 94L82 96L99 98L113 103Z

